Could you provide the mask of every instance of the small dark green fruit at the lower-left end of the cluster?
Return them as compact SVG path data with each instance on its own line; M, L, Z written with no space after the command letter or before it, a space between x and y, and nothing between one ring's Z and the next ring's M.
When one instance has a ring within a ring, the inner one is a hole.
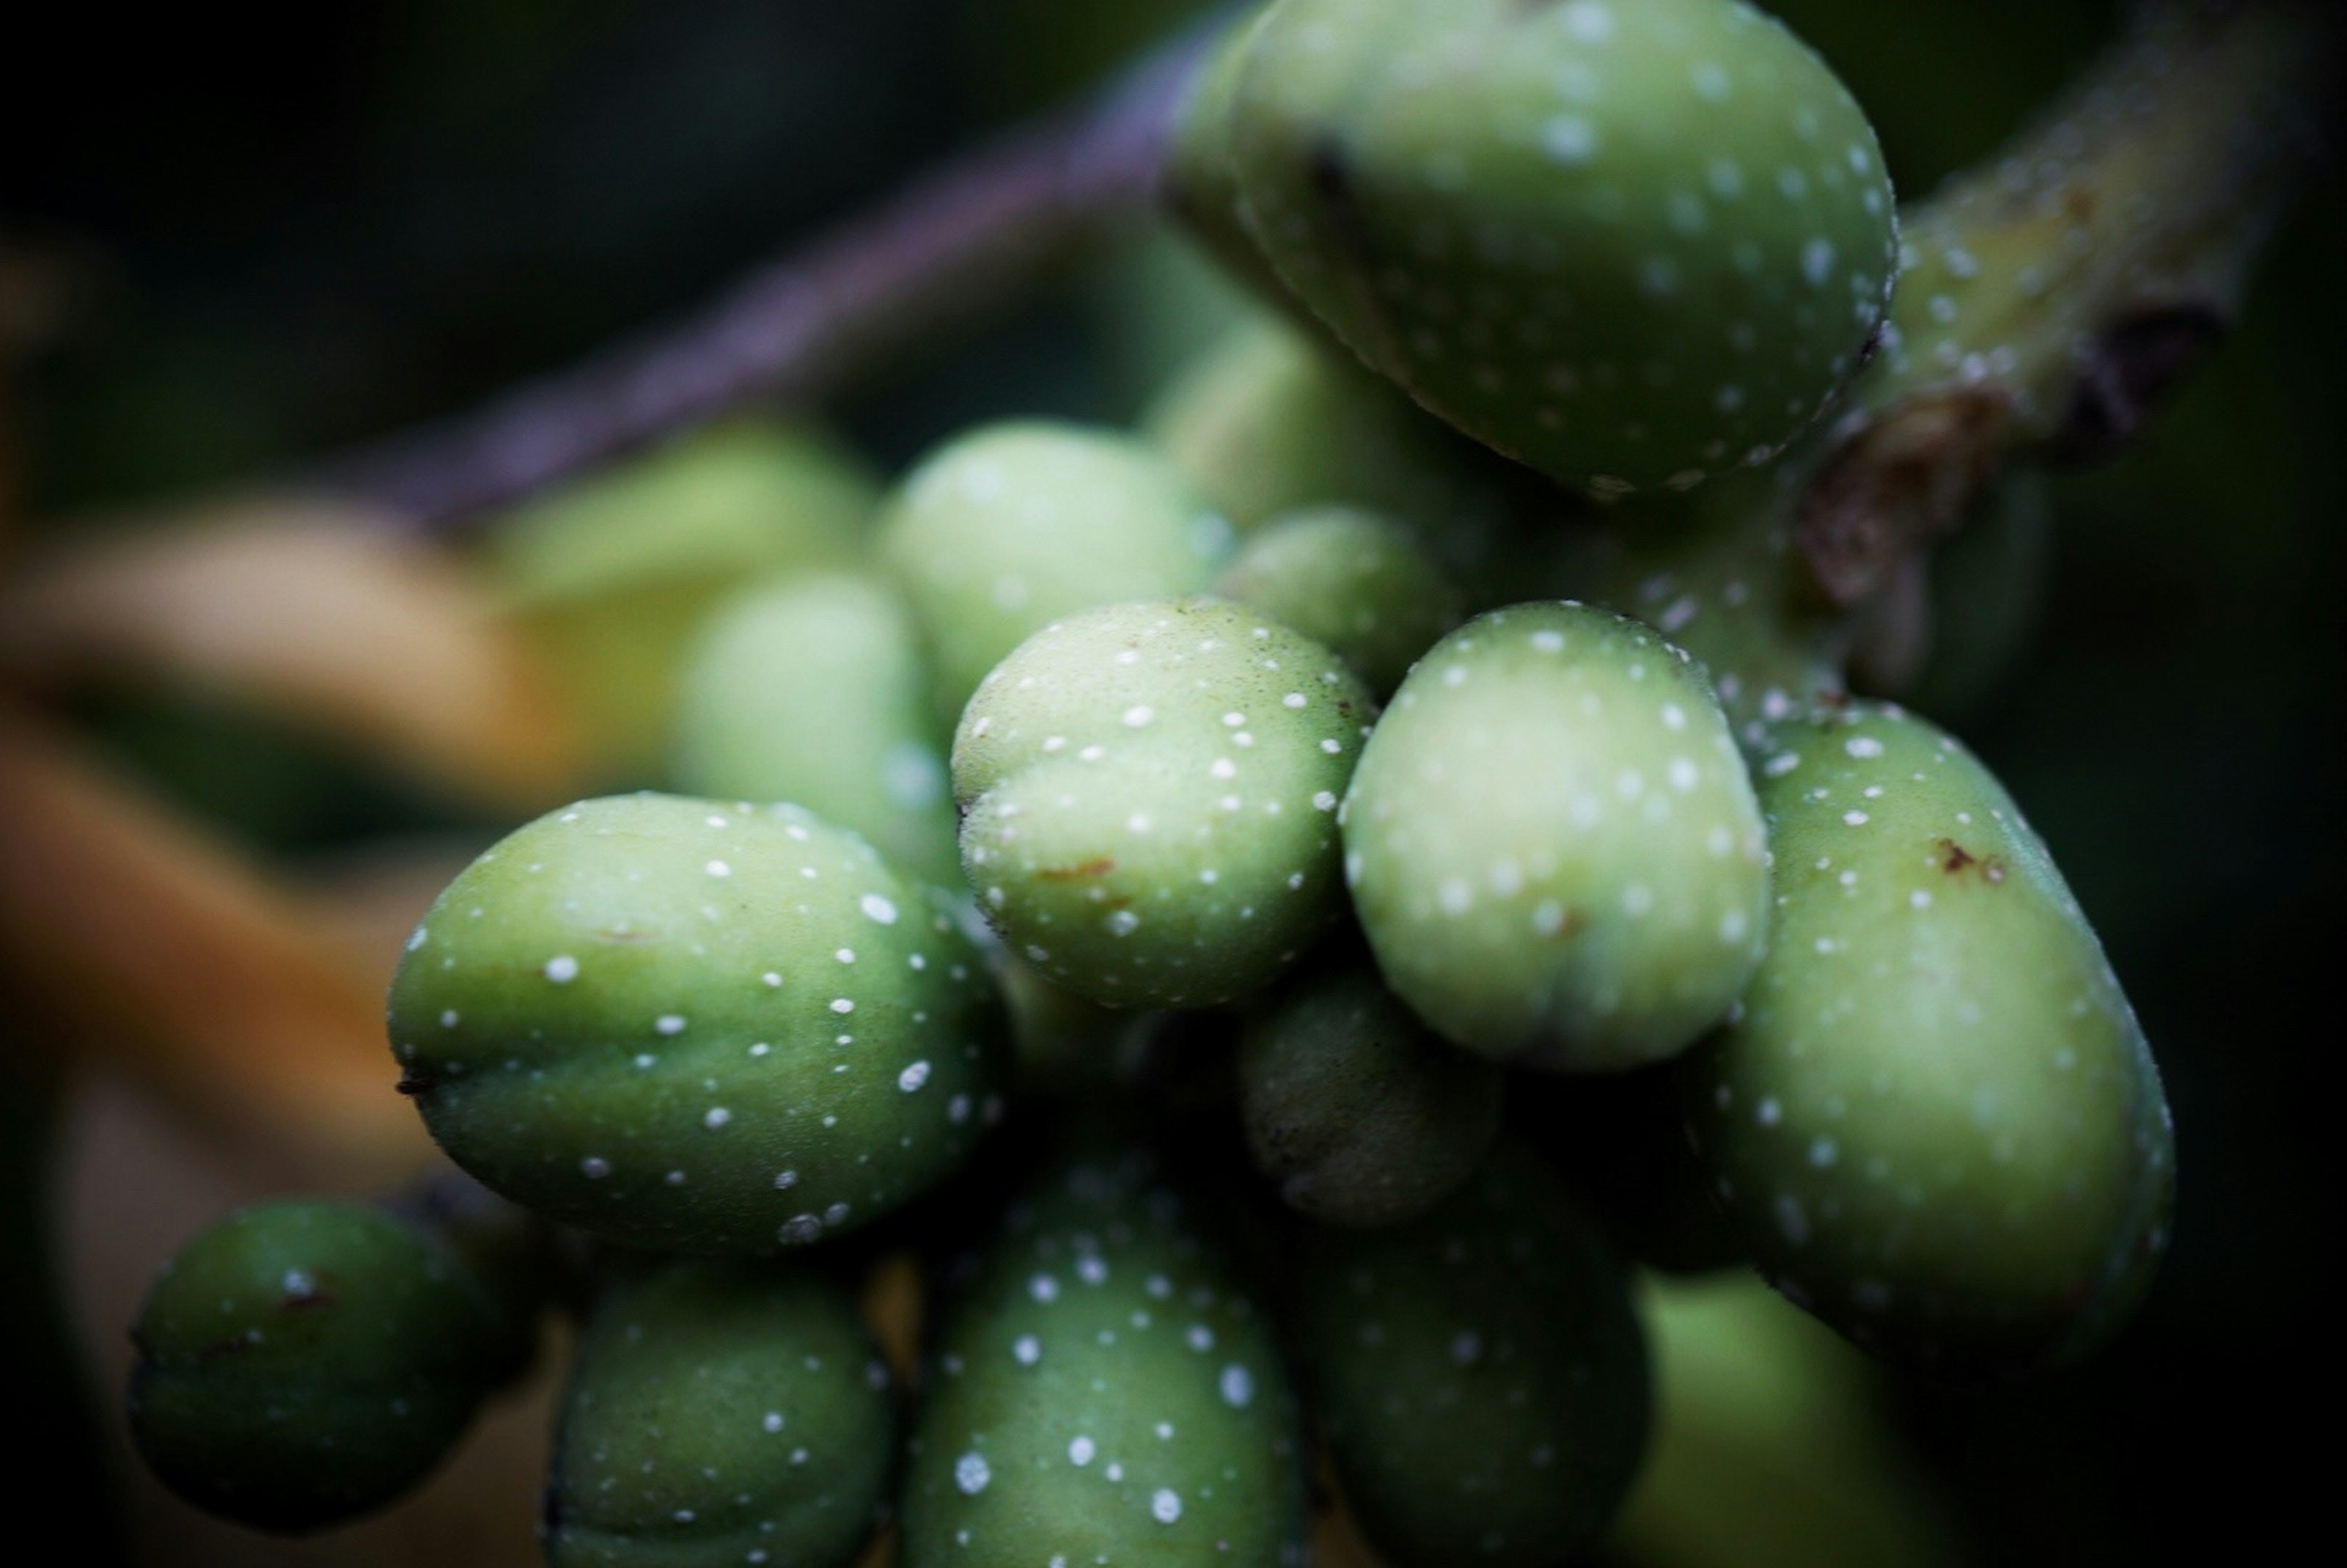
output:
M261 1530L368 1514L455 1448L530 1324L376 1209L239 1209L131 1326L131 1441L181 1498Z

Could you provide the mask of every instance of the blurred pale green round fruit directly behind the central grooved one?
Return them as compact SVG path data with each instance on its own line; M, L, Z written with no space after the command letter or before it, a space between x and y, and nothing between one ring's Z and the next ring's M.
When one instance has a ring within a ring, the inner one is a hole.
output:
M1204 589L1230 554L1230 521L1131 437L990 425L904 479L880 554L929 636L951 723L986 671L1051 620Z

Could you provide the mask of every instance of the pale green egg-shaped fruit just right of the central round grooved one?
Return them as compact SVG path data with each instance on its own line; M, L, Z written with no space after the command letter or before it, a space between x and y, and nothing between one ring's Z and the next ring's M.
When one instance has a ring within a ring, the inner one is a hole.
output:
M1526 603L1436 643L1342 822L1385 981L1481 1056L1659 1061L1760 960L1767 845L1727 721L1685 653L1605 610Z

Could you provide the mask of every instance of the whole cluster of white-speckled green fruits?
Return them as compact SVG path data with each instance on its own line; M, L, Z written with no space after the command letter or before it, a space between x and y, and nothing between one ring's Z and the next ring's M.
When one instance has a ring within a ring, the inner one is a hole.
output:
M1734 552L1624 566L1885 324L1847 92L1737 0L1277 0L1176 164L1378 376L1256 324L723 603L685 793L512 833L392 991L441 1148L591 1244L235 1216L138 1324L167 1481L387 1500L584 1261L556 1563L887 1512L915 1568L1286 1563L1324 1451L1392 1563L1533 1566L1645 1446L1624 1256L1946 1378L2126 1314L2166 1113L2044 845L1925 718L1779 681ZM901 1441L843 1286L885 1249L936 1284Z

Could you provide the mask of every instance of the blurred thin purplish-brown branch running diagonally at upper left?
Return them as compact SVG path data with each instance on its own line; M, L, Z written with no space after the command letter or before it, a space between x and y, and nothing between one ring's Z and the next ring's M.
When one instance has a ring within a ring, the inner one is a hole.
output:
M828 401L1145 214L1204 42L1174 40L1094 106L946 164L695 317L331 460L312 484L448 533L746 399Z

